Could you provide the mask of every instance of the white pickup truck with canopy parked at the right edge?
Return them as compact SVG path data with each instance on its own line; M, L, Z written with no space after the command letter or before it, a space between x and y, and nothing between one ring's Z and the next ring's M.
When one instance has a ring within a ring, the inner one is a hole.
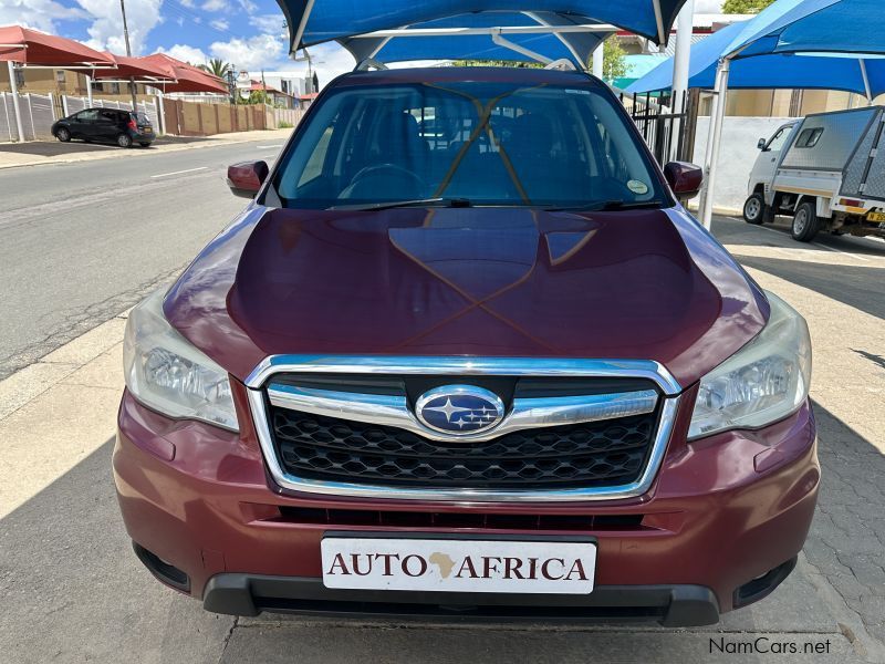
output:
M803 242L820 231L885 237L883 128L885 108L868 106L809 115L760 138L745 220L790 215Z

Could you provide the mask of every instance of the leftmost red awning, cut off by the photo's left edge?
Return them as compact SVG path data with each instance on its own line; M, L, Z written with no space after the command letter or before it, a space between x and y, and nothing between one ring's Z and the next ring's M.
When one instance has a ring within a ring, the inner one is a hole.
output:
M113 59L77 41L20 25L0 28L0 60L58 69L114 65Z

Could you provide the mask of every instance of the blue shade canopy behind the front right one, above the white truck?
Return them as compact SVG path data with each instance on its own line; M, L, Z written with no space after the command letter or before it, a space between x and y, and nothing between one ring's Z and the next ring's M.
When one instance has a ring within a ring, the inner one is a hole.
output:
M746 21L732 23L691 46L688 68L689 87L714 89L719 59L726 55L725 50L743 31L746 24ZM629 85L627 92L669 90L671 82L673 59L669 58ZM730 90L842 90L864 96L876 96L885 93L885 60L855 55L834 58L795 53L741 58L731 63L728 87Z

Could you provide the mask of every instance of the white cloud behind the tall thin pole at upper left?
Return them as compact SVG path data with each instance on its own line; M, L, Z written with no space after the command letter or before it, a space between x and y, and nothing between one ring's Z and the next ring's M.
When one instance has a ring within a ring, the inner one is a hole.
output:
M92 25L87 29L90 40L86 45L100 51L126 53L123 39L123 17L119 4L107 0L77 0L80 7L92 14ZM129 0L126 3L126 23L129 29L132 54L140 55L144 51L147 34L162 22L160 6L163 0Z

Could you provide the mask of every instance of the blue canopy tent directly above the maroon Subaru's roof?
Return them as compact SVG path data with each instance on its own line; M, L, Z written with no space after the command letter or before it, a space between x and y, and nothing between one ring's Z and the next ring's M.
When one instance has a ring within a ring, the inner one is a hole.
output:
M586 65L617 29L666 43L685 0L278 0L290 50L329 41L357 61L479 58ZM459 39L452 39L458 37Z

